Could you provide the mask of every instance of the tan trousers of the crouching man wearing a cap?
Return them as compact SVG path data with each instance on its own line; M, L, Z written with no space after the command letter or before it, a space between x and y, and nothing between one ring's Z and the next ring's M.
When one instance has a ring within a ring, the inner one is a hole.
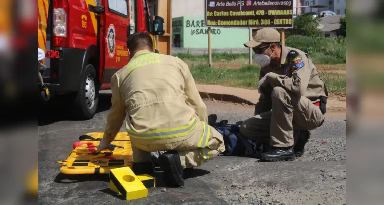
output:
M288 147L296 143L300 130L313 130L324 122L320 108L304 96L275 87L271 97L272 111L244 121L240 127L242 135L273 147Z

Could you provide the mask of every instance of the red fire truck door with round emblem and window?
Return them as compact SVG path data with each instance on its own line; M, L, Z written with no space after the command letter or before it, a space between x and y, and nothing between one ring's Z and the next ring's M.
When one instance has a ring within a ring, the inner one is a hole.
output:
M100 33L100 56L104 63L100 66L102 83L109 84L111 77L119 69L128 64L128 0L104 0L104 12L102 13L102 25ZM104 48L103 48L104 47ZM103 65L104 64L104 65ZM102 85L105 87L105 85Z

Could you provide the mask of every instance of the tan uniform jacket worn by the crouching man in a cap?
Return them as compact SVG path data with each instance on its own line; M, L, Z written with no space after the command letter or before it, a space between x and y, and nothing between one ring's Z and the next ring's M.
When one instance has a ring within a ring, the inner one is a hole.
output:
M256 104L255 114L272 109L271 92L276 86L290 93L307 97L312 103L320 101L320 96L328 97L327 87L320 77L311 57L295 48L281 46L281 64L262 67L260 79L267 73L267 86L261 89L261 95Z

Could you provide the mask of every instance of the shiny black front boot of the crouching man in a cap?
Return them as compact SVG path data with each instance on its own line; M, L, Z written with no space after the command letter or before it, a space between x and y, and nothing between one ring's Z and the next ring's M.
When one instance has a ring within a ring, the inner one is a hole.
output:
M262 161L294 161L295 153L293 146L290 147L272 147L269 152L261 153Z

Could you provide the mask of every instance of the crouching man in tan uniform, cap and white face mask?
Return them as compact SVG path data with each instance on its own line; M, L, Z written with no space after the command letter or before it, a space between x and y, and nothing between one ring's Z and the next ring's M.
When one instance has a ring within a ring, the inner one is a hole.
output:
M260 98L255 116L244 121L240 133L271 146L261 160L292 161L304 152L309 130L324 122L324 80L307 53L280 45L280 33L273 28L260 29L244 46L253 49L261 66Z

